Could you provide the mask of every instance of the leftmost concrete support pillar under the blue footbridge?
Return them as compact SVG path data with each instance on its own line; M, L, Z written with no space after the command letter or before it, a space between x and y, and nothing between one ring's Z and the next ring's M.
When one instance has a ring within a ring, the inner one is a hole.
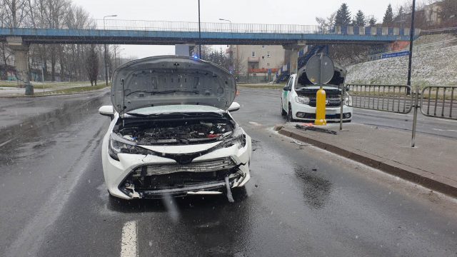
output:
M16 67L17 86L24 88L30 84L29 81L29 45L22 42L18 36L9 36L6 38L8 47L14 52L14 66ZM34 94L33 89L29 94Z

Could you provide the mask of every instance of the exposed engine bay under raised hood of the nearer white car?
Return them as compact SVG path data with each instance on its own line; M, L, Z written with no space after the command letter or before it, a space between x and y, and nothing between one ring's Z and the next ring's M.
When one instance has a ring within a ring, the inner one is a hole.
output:
M143 145L189 144L217 141L233 133L235 123L225 117L189 117L181 119L124 119L114 133Z

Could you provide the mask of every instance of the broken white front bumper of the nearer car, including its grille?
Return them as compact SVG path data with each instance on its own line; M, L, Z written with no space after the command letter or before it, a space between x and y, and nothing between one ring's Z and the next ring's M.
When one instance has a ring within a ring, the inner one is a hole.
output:
M104 138L105 182L112 196L124 199L224 193L226 176L231 188L241 187L251 178L251 138L246 139L242 148L220 148L181 165L170 158L128 153L120 153L116 161L108 153L109 137Z

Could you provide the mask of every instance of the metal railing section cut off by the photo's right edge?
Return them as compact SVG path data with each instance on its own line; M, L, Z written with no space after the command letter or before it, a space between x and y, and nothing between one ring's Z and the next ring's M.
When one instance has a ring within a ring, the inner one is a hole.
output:
M421 113L441 119L457 119L457 86L426 86L421 94Z

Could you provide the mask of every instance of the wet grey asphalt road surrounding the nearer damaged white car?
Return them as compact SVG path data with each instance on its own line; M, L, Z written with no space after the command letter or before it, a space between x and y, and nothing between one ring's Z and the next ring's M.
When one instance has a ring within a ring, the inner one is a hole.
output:
M0 148L0 256L457 256L456 200L279 136L268 94L236 99L255 151L235 203L109 200L108 97L17 136Z

